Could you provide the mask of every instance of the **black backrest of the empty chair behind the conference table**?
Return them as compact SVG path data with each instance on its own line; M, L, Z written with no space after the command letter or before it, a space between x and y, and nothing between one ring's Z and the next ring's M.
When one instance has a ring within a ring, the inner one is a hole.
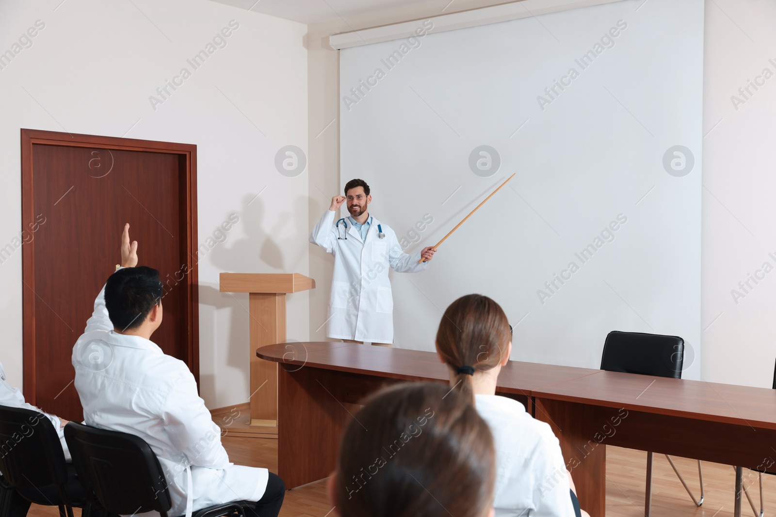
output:
M684 339L613 330L606 336L601 370L681 378Z

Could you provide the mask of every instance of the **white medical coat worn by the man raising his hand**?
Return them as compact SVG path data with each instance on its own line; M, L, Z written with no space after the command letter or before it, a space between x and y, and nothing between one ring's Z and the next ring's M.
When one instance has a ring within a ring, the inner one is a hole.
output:
M187 513L189 494L194 511L239 499L258 501L267 469L229 462L189 368L148 339L114 332L104 291L73 347L85 423L140 436L151 446L165 473L171 517Z

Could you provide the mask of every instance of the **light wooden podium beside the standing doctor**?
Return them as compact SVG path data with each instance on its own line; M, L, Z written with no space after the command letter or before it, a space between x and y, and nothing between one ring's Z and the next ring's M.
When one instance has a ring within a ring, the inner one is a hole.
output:
M256 357L256 349L286 341L286 293L314 289L315 281L299 273L221 273L219 287L221 292L247 292L250 297L251 419L229 426L228 432L277 438L278 364Z

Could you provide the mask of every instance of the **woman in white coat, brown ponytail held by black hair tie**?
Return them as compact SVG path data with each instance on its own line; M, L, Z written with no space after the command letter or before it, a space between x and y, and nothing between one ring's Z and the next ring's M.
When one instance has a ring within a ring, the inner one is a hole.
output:
M501 367L512 351L512 329L496 302L466 295L447 308L436 350L450 384L472 400L496 444L496 517L581 517L560 443L525 407L496 395ZM589 517L589 515L587 515Z

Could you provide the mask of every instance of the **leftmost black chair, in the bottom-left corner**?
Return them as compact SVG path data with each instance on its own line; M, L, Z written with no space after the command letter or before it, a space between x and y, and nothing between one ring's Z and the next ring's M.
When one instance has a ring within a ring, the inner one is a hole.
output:
M0 405L0 471L5 491L16 491L37 505L58 506L61 517L73 517L73 508L89 514L86 492L43 413ZM4 506L12 497L12 492L4 494Z

